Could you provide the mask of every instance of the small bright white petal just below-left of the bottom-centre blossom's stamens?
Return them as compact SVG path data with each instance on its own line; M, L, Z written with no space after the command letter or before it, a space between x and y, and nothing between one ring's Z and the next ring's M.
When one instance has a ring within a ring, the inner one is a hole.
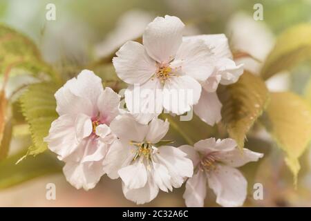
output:
M118 171L124 185L129 189L139 189L146 185L147 169L142 162L134 162Z

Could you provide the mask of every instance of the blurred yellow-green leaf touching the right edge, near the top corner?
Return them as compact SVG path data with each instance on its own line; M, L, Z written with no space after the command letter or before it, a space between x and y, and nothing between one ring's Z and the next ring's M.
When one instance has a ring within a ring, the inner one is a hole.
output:
M270 55L267 56L261 76L268 79L281 70L288 70L311 58L311 24L294 26L280 35Z

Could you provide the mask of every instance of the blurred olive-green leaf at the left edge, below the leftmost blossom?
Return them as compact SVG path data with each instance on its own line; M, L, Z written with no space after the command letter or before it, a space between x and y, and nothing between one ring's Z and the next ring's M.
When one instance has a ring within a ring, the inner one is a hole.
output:
M49 152L28 157L16 164L26 151L21 151L0 162L0 189L5 189L35 177L59 173L62 171L62 163L56 160Z

